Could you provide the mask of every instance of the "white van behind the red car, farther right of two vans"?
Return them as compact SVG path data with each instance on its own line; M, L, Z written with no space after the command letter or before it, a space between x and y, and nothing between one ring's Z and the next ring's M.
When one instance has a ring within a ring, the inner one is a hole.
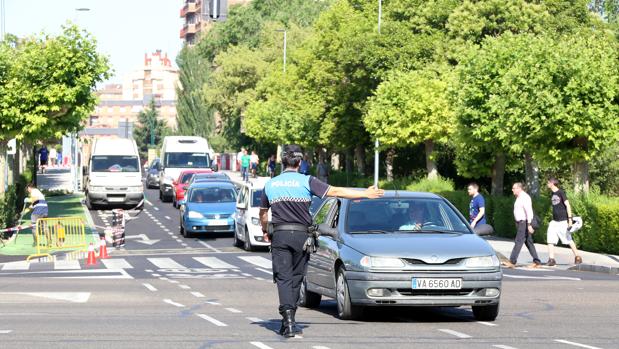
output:
M159 199L172 201L173 182L183 170L211 168L213 150L206 139L194 136L167 136L159 158Z

